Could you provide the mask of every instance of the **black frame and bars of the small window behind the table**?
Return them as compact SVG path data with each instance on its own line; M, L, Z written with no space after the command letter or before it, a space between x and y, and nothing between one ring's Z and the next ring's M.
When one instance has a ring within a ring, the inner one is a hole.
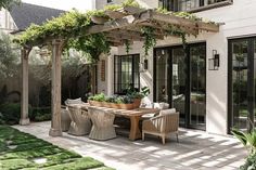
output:
M119 78L119 75L121 74L121 63L118 65L118 71L116 71L116 61L117 57L125 57L125 56L131 56L131 77L132 77L132 88L135 89L135 84L137 84L135 82L135 76L136 73L135 71L135 63L136 61L139 61L139 68L138 68L138 89L140 89L140 54L136 53L136 54L127 54L127 55L114 55L114 94L118 94L118 95L125 95L126 93L124 92L125 90L121 89L121 87L118 88L118 86L121 86L121 80L116 82L116 79ZM138 57L138 60L135 60L135 57ZM120 83L119 83L120 82ZM119 90L120 89L120 90Z

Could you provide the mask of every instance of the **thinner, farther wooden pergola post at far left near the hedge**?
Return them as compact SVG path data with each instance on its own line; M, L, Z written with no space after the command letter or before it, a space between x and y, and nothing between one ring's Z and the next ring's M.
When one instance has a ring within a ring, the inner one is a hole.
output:
M23 48L22 54L22 107L20 125L29 125L28 118L28 55L31 49Z

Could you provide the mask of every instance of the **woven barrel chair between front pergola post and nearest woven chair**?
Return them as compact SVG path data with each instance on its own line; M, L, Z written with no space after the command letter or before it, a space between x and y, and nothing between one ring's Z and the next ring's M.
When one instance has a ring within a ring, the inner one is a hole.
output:
M91 121L88 112L81 109L79 105L67 106L72 122L67 133L73 135L86 135L91 130Z

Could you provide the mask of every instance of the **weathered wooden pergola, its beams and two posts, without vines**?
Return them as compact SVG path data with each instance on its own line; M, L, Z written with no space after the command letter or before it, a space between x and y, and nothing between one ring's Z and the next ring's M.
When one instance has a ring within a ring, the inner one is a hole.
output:
M143 26L154 28L154 36L157 40L163 40L166 30L171 25L188 35L199 35L200 31L219 31L219 25L205 23L202 21L191 21L172 14L164 14L156 10L144 10L135 6L124 6L118 11L105 11L108 16L92 16L94 23L86 30L85 35L103 32L107 41L113 47L123 45L126 40L143 41L141 34ZM175 36L175 35L174 35ZM40 42L28 42L22 49L22 112L21 125L28 125L28 55L33 47L51 44L52 47L52 121L49 134L51 136L62 135L61 129L61 55L64 45L64 38L47 37Z

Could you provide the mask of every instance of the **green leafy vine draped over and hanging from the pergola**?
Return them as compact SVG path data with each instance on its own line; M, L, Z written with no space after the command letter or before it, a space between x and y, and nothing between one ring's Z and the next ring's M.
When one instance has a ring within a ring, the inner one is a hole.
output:
M107 5L104 10L89 11L87 13L80 13L76 10L61 14L59 17L54 17L51 21L47 21L41 26L31 25L26 29L15 42L21 45L34 45L44 43L51 38L61 38L65 40L65 49L76 49L90 54L91 58L97 61L101 53L110 52L110 43L104 34L86 35L87 29L93 26L94 23L91 21L91 16L101 16L111 19L106 14L105 10L116 11L124 6L136 6L140 8L139 3L135 0L126 0L121 4ZM188 18L191 21L202 21L202 18L191 15L189 13L168 12L164 9L157 9L157 12L165 14L172 14L178 17ZM152 27L144 26L141 28L141 36L145 38L143 49L145 56L149 55L149 51L156 44L156 37L154 35L155 29ZM185 32L178 26L169 25L166 35L179 36L185 44ZM125 41L126 52L129 53L130 40Z

